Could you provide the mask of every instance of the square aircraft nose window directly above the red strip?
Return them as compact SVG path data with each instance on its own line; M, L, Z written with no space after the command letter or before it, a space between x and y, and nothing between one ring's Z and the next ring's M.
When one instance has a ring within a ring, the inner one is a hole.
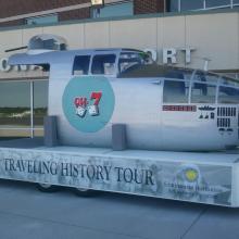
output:
M189 81L164 80L163 102L188 103Z

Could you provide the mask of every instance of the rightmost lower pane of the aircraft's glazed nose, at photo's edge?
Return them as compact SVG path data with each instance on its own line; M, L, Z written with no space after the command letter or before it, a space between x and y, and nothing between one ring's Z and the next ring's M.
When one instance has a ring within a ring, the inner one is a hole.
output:
M239 103L239 89L221 86L218 103Z

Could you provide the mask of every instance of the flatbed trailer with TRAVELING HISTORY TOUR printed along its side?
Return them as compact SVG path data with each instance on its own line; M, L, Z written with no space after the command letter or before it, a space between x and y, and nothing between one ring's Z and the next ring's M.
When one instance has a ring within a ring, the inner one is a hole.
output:
M238 150L169 152L0 142L0 178L179 201L239 206Z

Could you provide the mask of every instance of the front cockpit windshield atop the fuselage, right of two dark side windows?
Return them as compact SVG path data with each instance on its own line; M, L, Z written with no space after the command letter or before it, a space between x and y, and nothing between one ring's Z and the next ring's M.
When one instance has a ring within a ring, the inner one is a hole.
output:
M142 53L143 54L143 53ZM120 56L118 68L123 73L134 66L144 64L143 55L137 52L124 52ZM146 54L147 55L147 54Z

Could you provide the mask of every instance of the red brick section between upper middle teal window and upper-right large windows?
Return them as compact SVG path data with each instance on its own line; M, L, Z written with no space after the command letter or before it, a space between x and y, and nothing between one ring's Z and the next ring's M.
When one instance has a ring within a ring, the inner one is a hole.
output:
M164 12L164 0L134 0L135 14Z

